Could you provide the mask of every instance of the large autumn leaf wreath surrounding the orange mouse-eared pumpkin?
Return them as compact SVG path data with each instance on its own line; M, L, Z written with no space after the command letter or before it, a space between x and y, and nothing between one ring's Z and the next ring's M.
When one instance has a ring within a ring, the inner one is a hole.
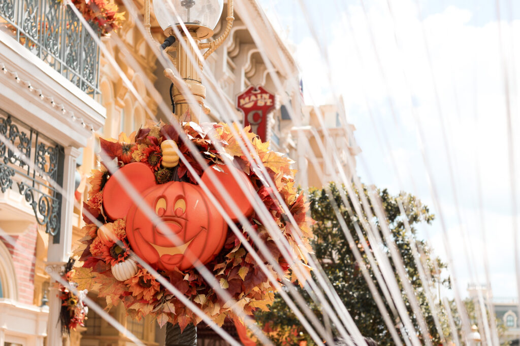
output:
M185 132L183 134L185 140L187 138L197 147L208 165L223 167L221 155L226 155L232 160L233 166L241 174L243 172L246 179L251 182L252 187L279 226L281 236L287 239L295 256L301 260L293 264L287 263L280 255L275 242L269 237L268 231L259 221L259 217L254 211L248 214L250 224L284 270L285 277L291 278L292 282L296 281L291 268L295 265L308 272L309 267L306 262L307 254L310 252L308 240L312 237L312 220L306 216L308 206L304 202L303 194L298 193L294 186L294 170L290 168L293 161L282 154L269 150L268 143L263 143L254 133L249 132L249 129L245 129L244 140L251 143L256 150L285 204L289 206L298 229L294 229L289 224L287 215L284 215L279 202L271 197L271 188L266 186L263 178L255 174L251 163L227 124L186 122L181 125L181 129ZM238 128L236 129L238 131ZM219 154L216 148L217 143L223 148L222 154ZM75 256L79 259L81 266L74 272L73 280L77 283L77 288L97 290L100 297L106 297L108 308L118 305L121 301L126 312L133 318L140 319L144 315L151 314L157 318L161 326L169 321L173 324L178 323L183 329L188 323L199 323L200 317L172 296L145 268L132 260L130 254L133 251L136 254L138 252L132 247L133 238L127 231L129 227L132 227L129 224L135 221L124 216L113 218L115 212L106 208L106 190L109 188L111 179L118 174L117 172L124 171L125 167L142 170L145 165L147 174L152 174L155 179L153 184L157 184L159 187L164 186L166 189L166 186L172 185L171 182L184 182L190 186L196 186L196 177L188 170L183 160L178 160L177 154L184 155L194 172L203 177L204 172L201 165L193 157L188 146L179 140L179 134L170 124L150 123L147 127L141 128L137 133L134 132L129 136L122 133L119 140L100 139L100 145L108 158L112 159L112 162L117 162L119 169L111 176L105 166L101 164L101 168L93 170L90 175L88 200L84 204L86 223L83 227L84 238L81 239L81 245L75 251ZM137 174L136 169L132 172L132 174ZM128 175L128 177L132 176ZM105 192L104 198L103 192ZM155 198L154 202L157 204L154 210L158 214L164 213L161 208L166 208L166 204L162 205L160 200ZM188 199L186 200L175 202L176 205L173 208L175 213L184 212L184 209L187 208L186 204L190 202ZM111 213L112 217L109 215ZM88 215L92 215L99 221L98 225L103 226L98 228ZM237 226L242 229L240 224ZM107 237L107 234L119 239L120 242L114 242L110 239L111 237ZM256 251L257 247L244 230L243 236ZM304 246L298 246L295 237L302 239ZM150 256L150 253L156 254L153 250L144 254ZM175 255L171 257L172 261L174 257ZM231 310L232 304L222 301L196 269L183 269L186 267L183 264L172 267L171 261L163 262L164 264L158 262L158 272L219 326L224 323L226 316L234 317ZM272 266L267 261L266 264L267 268L272 271L272 275L281 281L282 278L272 269ZM125 268L122 267L123 265ZM222 250L213 254L212 259L207 261L205 266L215 275L220 286L227 290L227 293L233 298L233 303L243 308L246 314L251 315L256 309L268 310L268 306L274 299L274 288L271 287L266 275L236 234L227 230L227 225Z

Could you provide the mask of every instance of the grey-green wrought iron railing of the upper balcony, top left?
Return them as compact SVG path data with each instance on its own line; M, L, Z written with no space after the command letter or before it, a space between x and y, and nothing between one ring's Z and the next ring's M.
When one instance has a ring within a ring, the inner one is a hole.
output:
M0 0L0 28L81 90L99 94L99 47L63 2Z

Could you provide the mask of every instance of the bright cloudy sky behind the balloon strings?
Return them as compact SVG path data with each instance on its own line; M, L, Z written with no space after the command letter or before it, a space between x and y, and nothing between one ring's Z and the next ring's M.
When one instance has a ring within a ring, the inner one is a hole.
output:
M516 298L520 8L499 2L499 31L494 0L259 3L294 51L305 102L343 96L362 182L430 206L436 220L420 236L444 260L451 253L463 295L486 282L487 255L493 296Z

